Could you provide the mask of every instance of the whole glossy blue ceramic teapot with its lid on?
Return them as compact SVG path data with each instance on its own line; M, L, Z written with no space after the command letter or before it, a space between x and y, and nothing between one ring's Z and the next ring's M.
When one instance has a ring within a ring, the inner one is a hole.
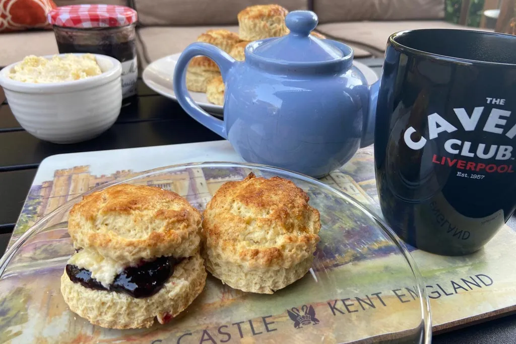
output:
M373 143L379 83L367 85L349 46L310 35L315 13L294 11L285 23L288 35L249 43L243 62L214 45L190 44L173 87L185 111L229 139L244 160L321 177ZM219 65L223 121L199 108L186 89L188 62L198 55Z

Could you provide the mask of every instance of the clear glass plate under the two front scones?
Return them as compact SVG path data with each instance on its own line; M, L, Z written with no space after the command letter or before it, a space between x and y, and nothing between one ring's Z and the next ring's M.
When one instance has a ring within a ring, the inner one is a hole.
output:
M59 277L73 253L75 198L30 228L0 260L0 341L13 343L429 343L423 280L405 246L363 205L315 179L245 163L172 166L105 184L154 185L200 210L227 181L249 172L291 179L320 211L307 275L272 295L245 293L208 274L202 294L165 325L108 330L70 312ZM91 192L91 191L90 191Z

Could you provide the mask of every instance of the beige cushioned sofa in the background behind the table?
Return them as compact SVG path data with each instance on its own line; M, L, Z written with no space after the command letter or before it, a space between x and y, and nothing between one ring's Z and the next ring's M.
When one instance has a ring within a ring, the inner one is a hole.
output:
M58 6L110 3L136 8L139 14L140 67L182 51L209 28L237 31L236 15L253 4L277 3L288 10L312 9L317 30L353 47L357 58L381 56L390 34L400 30L458 25L444 22L445 0L55 0ZM29 54L57 53L52 30L0 34L0 66Z

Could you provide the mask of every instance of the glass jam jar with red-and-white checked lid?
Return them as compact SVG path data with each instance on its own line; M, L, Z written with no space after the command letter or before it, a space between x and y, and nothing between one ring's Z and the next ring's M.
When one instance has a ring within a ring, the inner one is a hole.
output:
M122 96L136 94L138 59L136 23L132 8L116 5L71 5L48 14L60 54L108 55L122 63Z

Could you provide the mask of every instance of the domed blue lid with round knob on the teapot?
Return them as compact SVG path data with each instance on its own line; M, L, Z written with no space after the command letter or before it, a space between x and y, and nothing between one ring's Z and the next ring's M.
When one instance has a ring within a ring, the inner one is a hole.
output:
M317 15L312 11L290 12L285 18L290 33L261 41L252 53L282 62L326 62L347 55L338 47L310 35L317 23Z

